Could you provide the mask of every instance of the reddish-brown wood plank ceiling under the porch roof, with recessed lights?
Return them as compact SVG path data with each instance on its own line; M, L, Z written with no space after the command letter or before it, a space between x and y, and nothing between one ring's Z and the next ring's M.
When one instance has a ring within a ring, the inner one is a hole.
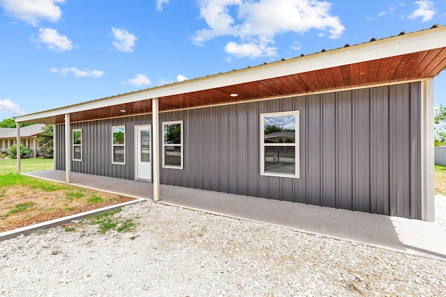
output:
M280 62L278 62L280 63ZM419 51L350 65L296 73L261 81L240 83L222 88L200 90L159 97L160 111L190 109L214 104L228 104L253 99L303 95L328 90L341 90L435 77L446 67L446 48ZM298 69L296 69L298 72ZM231 94L238 94L231 97ZM151 99L100 109L71 113L72 122L115 118L151 113ZM125 111L125 112L123 112ZM43 118L40 122L63 123L64 116Z

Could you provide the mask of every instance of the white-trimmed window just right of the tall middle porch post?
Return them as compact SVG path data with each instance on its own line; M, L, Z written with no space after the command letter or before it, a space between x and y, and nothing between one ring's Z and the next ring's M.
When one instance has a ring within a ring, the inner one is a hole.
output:
M183 169L183 121L162 122L162 167Z

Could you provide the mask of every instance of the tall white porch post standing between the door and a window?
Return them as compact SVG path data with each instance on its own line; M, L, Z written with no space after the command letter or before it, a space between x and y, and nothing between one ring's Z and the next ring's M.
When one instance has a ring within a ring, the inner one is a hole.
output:
M160 200L160 111L158 98L152 99L152 127L153 127L153 201Z

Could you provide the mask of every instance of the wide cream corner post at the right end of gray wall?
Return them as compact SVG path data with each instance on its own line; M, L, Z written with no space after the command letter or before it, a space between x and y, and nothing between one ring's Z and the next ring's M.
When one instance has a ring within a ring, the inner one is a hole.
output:
M433 185L433 79L422 81L421 91L421 209L422 220L435 221Z

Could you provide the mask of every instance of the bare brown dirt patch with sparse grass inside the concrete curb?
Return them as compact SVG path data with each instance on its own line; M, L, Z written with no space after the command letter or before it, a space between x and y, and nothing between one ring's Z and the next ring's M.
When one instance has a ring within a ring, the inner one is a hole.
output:
M47 192L10 186L0 191L0 232L131 200L134 198L80 188Z

